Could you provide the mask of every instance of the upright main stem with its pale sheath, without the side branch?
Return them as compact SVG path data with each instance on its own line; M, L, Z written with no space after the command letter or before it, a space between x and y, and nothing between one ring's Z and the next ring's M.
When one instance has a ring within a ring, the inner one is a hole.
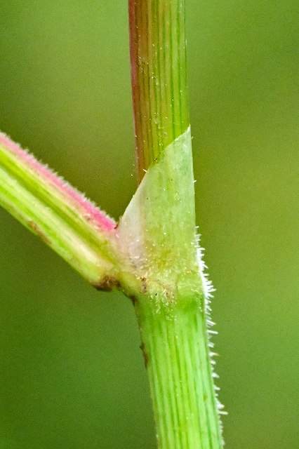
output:
M219 449L208 283L195 233L185 1L129 0L129 19L140 186L119 239L142 279L135 310L159 449Z

